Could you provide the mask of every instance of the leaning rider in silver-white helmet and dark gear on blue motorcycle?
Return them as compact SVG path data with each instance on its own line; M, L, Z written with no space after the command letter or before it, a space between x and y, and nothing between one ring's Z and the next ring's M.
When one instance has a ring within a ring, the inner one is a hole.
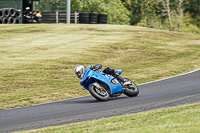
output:
M96 64L95 66L91 66L91 70L97 71L102 68L102 64ZM83 74L85 73L86 67L83 65L78 65L74 69L75 74L77 75L78 78L82 78ZM125 79L121 77L112 67L106 67L103 70L103 73L110 74L113 77L117 78L118 81L123 85L125 83Z

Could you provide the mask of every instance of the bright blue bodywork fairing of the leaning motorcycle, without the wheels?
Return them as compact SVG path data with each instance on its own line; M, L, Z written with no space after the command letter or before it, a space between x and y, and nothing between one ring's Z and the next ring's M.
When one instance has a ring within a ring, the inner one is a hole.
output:
M111 80L114 79L113 76L103 73L102 71L93 71L90 69L91 66L86 68L86 71L80 81L80 84L88 90L88 86L93 84L96 80L107 84L110 88L111 94L121 92L125 90L121 87L119 83L113 84ZM121 74L122 71L120 71Z

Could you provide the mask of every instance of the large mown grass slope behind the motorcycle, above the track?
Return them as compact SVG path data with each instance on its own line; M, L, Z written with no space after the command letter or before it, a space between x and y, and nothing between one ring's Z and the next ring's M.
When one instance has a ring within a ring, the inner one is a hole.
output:
M199 68L200 34L122 25L0 25L0 110L88 95L76 65L136 84Z

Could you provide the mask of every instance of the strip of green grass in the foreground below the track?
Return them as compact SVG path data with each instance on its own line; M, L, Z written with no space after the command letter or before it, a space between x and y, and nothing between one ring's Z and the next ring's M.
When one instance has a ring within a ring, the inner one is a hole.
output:
M200 103L22 133L199 133Z

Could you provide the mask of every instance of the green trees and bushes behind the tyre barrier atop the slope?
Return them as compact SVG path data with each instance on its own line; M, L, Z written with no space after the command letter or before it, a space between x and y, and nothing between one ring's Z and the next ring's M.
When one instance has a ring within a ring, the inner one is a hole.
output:
M108 14L109 24L200 33L200 0L71 0L72 11ZM66 0L40 0L42 11L66 9Z

